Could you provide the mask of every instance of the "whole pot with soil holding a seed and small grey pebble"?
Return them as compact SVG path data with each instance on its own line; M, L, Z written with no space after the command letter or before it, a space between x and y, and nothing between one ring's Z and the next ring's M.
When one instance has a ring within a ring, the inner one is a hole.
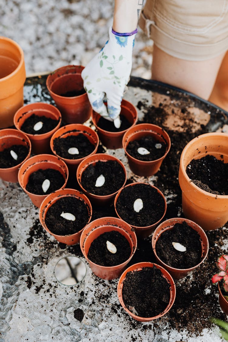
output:
M125 132L122 144L132 172L148 177L158 172L171 141L161 127L142 123Z

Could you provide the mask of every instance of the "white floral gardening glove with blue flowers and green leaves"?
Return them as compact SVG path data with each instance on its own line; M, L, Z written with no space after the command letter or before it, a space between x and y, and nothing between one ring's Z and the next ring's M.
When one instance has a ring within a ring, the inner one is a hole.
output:
M132 68L135 34L117 36L109 28L109 40L82 70L84 89L93 110L120 127L120 105ZM107 107L103 100L107 97Z

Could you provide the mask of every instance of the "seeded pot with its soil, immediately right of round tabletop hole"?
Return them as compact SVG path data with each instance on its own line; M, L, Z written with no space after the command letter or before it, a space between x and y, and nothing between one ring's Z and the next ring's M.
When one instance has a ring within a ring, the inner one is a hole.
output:
M82 232L80 247L92 272L102 279L116 279L132 259L137 239L131 226L113 217L89 223Z

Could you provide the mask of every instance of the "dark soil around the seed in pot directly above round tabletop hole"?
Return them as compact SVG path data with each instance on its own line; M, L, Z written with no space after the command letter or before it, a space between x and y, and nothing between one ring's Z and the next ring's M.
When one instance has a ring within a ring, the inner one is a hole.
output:
M60 216L62 212L73 214L76 220L64 219ZM85 202L73 196L61 197L48 209L45 224L56 235L71 235L84 228L89 218L90 215Z

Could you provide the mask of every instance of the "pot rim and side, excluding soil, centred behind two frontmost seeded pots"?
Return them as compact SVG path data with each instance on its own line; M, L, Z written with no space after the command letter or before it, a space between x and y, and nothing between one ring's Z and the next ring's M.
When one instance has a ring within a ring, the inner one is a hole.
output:
M122 220L121 216L118 214L118 211L117 211L117 207L116 207L116 204L117 204L117 200L118 200L118 197L120 196L121 194L121 191L128 187L128 186L134 186L136 184L147 184L149 186L151 186L152 188L156 189L157 192L161 195L161 197L164 199L164 203L165 203L165 209L164 209L164 213L162 215L162 217L160 218L160 220L158 222L155 222L153 224L151 224L150 226L145 226L145 227L137 227L137 226L132 226L132 228L135 230L135 233L138 237L140 238L145 238L145 237L148 237L154 230L155 228L157 227L157 225L159 224L159 222L163 219L163 217L165 216L165 213L166 213L166 209L167 209L167 204L166 204L166 200L165 200L165 197L164 195L162 194L162 192L156 188L156 186L153 186L151 184L148 184L148 183L143 183L143 182L138 182L138 183L131 183L131 184L128 184L128 185L125 185L124 187L122 187L119 192L117 193L116 197L115 197L115 201L114 201L114 207L115 207L115 211L117 213L117 216ZM133 210L133 208L132 208ZM129 223L130 224L130 223Z

